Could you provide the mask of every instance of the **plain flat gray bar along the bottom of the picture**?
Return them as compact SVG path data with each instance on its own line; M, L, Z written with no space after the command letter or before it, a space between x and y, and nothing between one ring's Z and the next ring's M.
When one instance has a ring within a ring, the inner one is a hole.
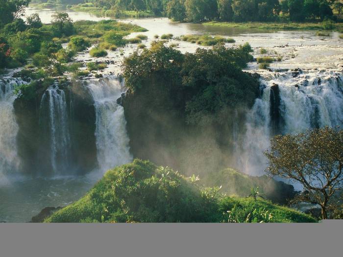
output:
M341 257L342 235L343 220L318 224L0 224L0 256Z

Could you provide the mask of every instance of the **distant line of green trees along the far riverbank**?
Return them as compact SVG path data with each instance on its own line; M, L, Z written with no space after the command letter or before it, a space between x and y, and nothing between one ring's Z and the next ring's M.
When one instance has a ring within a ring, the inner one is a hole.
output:
M33 0L51 4L77 4L84 8L149 12L174 21L277 22L340 19L342 0ZM335 12L335 15L334 15Z

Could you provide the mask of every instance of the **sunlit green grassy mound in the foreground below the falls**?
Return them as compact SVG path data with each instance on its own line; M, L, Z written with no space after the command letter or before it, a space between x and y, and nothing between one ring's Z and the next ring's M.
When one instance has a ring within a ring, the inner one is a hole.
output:
M217 189L199 187L168 167L135 160L109 170L84 197L46 222L234 222L233 216L237 222L243 217L248 222L315 221L267 201L222 197ZM272 219L261 218L265 210Z

